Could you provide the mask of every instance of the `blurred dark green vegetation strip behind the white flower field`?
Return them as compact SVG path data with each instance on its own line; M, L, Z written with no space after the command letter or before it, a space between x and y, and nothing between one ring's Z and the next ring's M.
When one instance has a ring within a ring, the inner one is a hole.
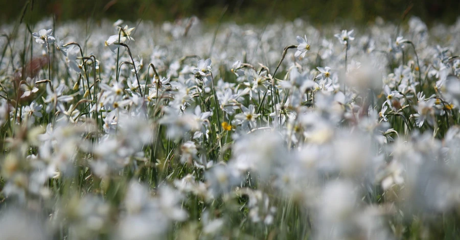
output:
M12 22L21 15L28 1L0 0L0 21ZM25 16L29 22L54 14L57 20L94 17L113 20L154 21L174 20L196 15L210 22L218 21L225 6L224 20L242 22L266 22L282 17L297 17L313 23L354 21L365 23L376 16L399 21L403 12L412 6L408 16L421 17L429 25L433 22L453 23L460 14L460 0L34 0L33 11ZM31 4L29 5L30 10ZM406 18L407 19L407 18Z

